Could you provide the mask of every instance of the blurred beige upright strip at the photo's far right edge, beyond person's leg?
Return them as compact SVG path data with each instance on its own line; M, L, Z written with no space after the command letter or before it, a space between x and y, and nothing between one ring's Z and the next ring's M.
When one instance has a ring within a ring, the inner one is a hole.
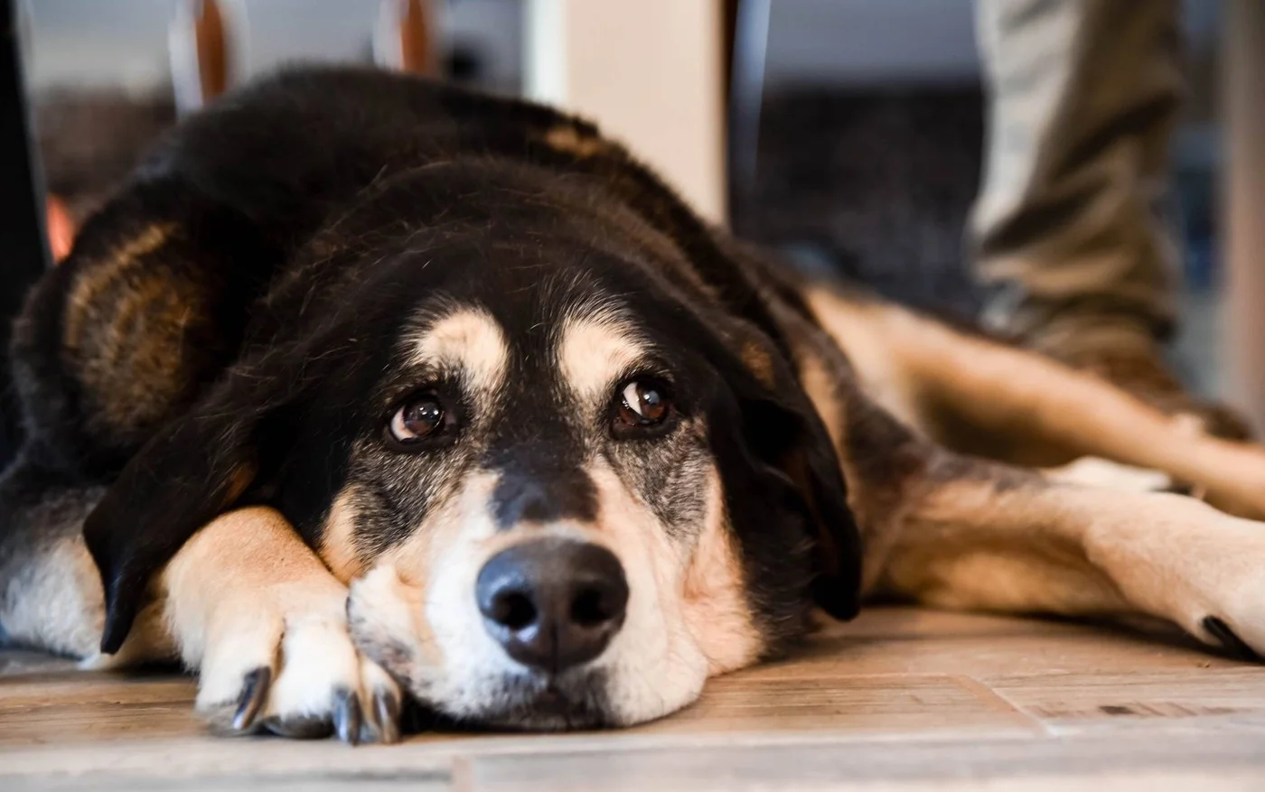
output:
M1265 430L1265 4L1231 0L1223 37L1223 239L1231 401Z

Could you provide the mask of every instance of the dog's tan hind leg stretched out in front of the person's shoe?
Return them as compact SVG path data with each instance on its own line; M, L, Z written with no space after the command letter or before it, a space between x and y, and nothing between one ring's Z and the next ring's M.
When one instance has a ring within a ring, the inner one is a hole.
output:
M1163 471L1219 509L1265 517L1265 449L1212 438L1042 356L882 302L811 292L865 391L954 450L1034 466L1101 457Z

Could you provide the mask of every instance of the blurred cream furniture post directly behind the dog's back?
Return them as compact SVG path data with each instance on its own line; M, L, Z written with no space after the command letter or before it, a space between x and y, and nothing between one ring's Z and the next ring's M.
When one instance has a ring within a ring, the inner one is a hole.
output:
M722 0L528 0L526 95L588 116L724 221Z

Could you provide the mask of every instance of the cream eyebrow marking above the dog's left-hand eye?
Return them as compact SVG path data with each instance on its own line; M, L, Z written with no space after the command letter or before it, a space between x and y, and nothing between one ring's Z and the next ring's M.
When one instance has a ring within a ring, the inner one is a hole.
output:
M505 331L482 309L458 309L417 333L412 361L423 366L459 367L471 387L493 391L500 387L510 363Z

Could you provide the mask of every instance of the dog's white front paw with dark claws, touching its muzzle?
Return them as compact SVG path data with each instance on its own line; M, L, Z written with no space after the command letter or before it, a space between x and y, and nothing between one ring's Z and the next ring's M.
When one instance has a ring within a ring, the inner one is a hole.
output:
M224 603L213 620L197 711L216 730L335 734L350 744L400 739L400 688L352 644L345 590L334 581L278 585Z

